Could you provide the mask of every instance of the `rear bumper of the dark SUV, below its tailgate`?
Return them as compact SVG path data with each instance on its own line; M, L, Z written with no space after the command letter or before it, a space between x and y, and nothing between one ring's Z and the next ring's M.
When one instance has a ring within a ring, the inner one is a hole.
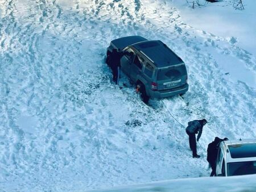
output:
M149 96L151 98L164 98L171 97L174 95L184 94L188 91L188 84L185 84L180 87L175 87L174 89L168 89L163 91L152 91L150 90Z

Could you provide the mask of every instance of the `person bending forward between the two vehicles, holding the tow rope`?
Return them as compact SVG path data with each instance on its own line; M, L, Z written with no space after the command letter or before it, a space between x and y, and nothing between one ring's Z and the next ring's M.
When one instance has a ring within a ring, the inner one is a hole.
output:
M197 155L197 152L196 152L196 140L199 141L205 124L207 124L206 119L193 120L192 122L188 122L188 127L186 128L186 132L189 137L189 147L192 151L193 158L200 158L200 155ZM196 139L197 133L198 135Z

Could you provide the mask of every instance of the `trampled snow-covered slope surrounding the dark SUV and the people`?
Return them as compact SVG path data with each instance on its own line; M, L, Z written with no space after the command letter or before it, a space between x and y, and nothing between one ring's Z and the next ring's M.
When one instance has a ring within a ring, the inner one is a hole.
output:
M234 25L226 33L187 19L203 9L224 12L167 0L0 0L0 191L208 177L205 150L215 136L256 138L255 30L245 38L226 13L221 25ZM230 12L255 22L252 9ZM133 85L112 84L106 47L127 35L162 40L184 60L184 98L148 107ZM183 126L209 121L200 159L171 115Z

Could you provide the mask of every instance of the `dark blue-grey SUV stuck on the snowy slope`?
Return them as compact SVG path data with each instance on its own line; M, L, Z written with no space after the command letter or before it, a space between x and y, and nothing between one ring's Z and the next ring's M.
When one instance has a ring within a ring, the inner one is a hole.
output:
M141 36L115 39L107 49L107 63L113 49L123 53L121 70L135 82L145 103L149 98L182 95L188 91L184 62L162 41Z

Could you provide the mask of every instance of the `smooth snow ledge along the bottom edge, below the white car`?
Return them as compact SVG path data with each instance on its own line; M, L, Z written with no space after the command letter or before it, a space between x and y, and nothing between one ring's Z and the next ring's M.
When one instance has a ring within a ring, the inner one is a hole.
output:
M152 182L142 185L115 187L113 189L92 190L87 192L254 192L256 191L256 175L219 178L193 178L161 182Z

